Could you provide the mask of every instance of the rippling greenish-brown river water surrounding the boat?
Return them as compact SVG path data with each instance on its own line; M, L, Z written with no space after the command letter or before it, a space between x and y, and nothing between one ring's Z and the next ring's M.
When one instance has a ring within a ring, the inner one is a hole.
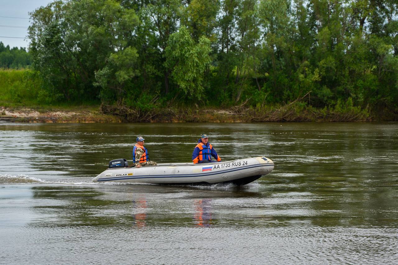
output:
M188 162L266 156L243 187L93 183L142 135ZM0 264L398 264L398 123L0 123Z

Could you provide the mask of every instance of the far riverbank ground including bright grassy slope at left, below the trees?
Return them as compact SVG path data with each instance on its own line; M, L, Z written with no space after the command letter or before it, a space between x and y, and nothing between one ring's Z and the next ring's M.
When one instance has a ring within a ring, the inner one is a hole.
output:
M45 90L30 69L0 69L0 121L26 123L125 123L125 122L357 122L398 121L397 112L380 112L353 106L352 101L334 107L315 108L308 105L310 92L287 104L258 104L248 100L230 107L155 106L152 109L106 105L97 102L46 103Z

